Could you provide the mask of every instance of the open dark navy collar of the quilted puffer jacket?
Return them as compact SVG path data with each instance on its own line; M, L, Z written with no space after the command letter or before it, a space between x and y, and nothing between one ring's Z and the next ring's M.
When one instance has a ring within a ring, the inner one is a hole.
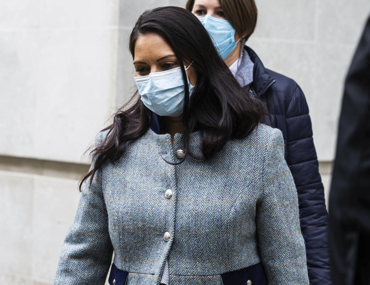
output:
M261 95L263 95L268 88L275 83L275 79L270 76L268 70L263 66L262 61L252 48L245 46L244 52L249 54L250 59L254 63L252 87L255 94L253 95L255 95L256 98L260 98Z

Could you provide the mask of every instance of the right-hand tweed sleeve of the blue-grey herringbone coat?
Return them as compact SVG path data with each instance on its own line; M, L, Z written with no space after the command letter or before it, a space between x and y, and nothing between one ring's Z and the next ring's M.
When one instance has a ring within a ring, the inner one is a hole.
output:
M273 129L263 170L256 222L269 285L309 284L297 191L284 158L283 135Z

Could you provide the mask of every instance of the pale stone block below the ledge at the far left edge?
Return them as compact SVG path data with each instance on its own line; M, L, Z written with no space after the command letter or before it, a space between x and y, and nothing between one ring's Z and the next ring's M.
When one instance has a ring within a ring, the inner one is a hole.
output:
M0 275L31 276L33 239L31 177L0 172ZM6 283L2 283L6 284Z

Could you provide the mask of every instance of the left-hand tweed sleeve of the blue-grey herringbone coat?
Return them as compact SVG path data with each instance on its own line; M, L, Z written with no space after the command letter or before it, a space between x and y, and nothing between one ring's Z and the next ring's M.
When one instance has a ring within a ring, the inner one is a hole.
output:
M100 170L91 187L89 182L83 185L74 221L64 239L54 285L105 284L113 249Z

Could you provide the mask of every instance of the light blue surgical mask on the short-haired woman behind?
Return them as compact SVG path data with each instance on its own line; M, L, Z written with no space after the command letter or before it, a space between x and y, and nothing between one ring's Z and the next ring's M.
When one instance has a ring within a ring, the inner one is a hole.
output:
M236 44L240 41L239 38L239 40L235 42L235 29L231 26L229 21L209 15L199 18L199 21L201 21L208 31L222 59L228 57L234 48L236 48Z

